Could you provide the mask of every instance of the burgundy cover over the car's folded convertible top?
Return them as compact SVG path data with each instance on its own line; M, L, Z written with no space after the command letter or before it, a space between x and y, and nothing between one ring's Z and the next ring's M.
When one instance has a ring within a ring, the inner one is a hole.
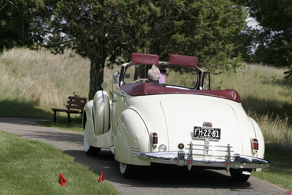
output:
M121 88L129 95L153 95L153 94L199 94L214 96L233 101L241 102L239 94L234 89L224 90L188 90L176 89L170 87L161 87L147 82L142 83L128 83L121 86Z

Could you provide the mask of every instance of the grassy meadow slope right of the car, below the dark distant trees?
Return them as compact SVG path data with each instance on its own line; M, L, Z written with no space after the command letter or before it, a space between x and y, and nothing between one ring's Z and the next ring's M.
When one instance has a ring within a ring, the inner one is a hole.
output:
M246 111L292 115L292 82L284 79L284 68L246 65L236 73L212 75L213 89L235 89Z

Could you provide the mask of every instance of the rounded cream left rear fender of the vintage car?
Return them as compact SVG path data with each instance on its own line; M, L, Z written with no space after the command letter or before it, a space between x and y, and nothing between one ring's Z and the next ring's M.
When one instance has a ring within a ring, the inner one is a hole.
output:
M124 110L117 120L115 159L127 164L150 165L149 162L137 158L139 152L150 151L150 136L144 121L136 111Z

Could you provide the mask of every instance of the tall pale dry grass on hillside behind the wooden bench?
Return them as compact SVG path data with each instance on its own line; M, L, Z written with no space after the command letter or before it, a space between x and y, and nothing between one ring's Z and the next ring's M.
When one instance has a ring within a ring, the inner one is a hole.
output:
M65 108L75 94L88 97L90 61L48 51L11 49L0 57L0 100L30 102L37 108ZM110 70L106 71L105 74Z

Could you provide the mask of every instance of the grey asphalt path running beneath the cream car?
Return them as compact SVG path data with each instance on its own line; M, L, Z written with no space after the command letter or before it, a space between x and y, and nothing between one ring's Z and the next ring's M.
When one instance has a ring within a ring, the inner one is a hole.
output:
M98 156L84 152L83 133L42 127L40 119L0 118L0 130L21 134L23 138L50 143L88 166L124 194L279 194L288 190L250 177L247 182L233 182L225 170L192 170L178 166L151 166L140 170L136 179L121 176L119 163L109 149Z

